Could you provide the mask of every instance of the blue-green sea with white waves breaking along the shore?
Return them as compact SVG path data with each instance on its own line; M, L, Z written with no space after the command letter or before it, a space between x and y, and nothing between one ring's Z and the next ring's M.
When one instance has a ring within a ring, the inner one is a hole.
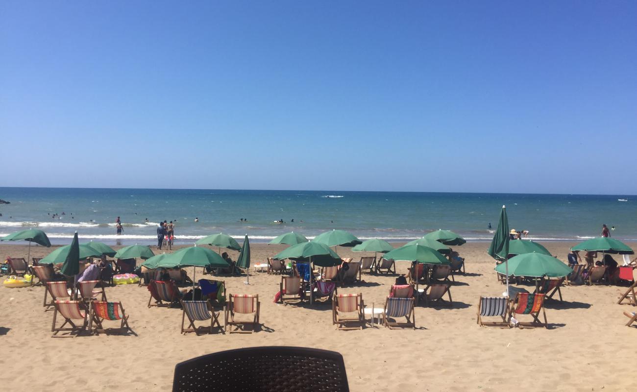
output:
M529 230L535 240L599 236L604 223L614 226L613 237L637 240L637 196L631 195L0 187L0 199L10 201L0 205L0 235L40 228L54 243L68 243L78 231L85 240L150 244L164 220L176 222L176 243L220 232L247 233L253 242L288 231L312 238L334 228L390 242L439 228L489 240L502 205L510 228Z

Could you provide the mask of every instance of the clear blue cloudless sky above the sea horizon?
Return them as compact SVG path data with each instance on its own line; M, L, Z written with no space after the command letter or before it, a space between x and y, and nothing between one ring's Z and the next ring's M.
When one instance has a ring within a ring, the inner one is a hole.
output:
M635 1L2 1L0 186L637 194Z

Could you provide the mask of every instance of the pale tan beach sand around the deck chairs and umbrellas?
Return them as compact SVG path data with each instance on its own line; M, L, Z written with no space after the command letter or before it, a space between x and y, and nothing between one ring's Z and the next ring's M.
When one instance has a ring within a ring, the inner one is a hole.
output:
M573 243L543 243L566 259ZM637 244L629 244L633 249ZM135 336L52 338L54 312L42 307L41 286L0 287L1 390L166 391L175 364L210 352L258 345L297 345L338 351L345 358L352 391L634 391L637 329L627 328L617 305L618 286L563 287L564 303L547 305L550 329L480 328L478 297L499 296L488 243L456 247L466 258L466 275L452 287L454 307L417 307L418 330L364 328L338 331L331 305L278 305L280 277L251 272L225 277L229 293L259 294L262 330L252 335L180 335L182 310L148 308L149 293L137 285L107 287L120 300ZM253 244L252 263L283 249ZM32 248L42 257L52 249ZM24 245L0 245L0 257L25 257ZM339 248L341 257L361 254ZM237 253L231 256L236 259ZM408 263L399 263L405 273ZM197 272L197 276L201 269ZM192 268L189 269L192 277ZM4 280L4 278L2 278ZM362 293L366 304L382 307L395 277L364 275L364 283L340 288ZM557 295L556 295L557 297ZM525 321L526 319L522 319ZM238 372L250 370L237 370ZM285 377L285 375L282 375ZM223 389L222 386L220 386Z

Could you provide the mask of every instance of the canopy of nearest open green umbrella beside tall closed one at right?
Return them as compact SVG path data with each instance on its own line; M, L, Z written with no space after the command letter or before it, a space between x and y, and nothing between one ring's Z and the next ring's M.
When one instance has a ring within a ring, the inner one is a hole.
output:
M510 273L514 276L550 278L565 277L573 269L553 256L541 253L524 253L508 260L508 271L505 264L496 266L499 273Z

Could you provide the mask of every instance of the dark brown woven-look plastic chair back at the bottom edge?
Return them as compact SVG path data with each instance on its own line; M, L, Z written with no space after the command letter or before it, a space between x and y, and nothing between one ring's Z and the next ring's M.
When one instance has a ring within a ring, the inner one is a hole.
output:
M341 354L304 347L247 347L176 365L173 392L215 390L348 392L349 387Z

